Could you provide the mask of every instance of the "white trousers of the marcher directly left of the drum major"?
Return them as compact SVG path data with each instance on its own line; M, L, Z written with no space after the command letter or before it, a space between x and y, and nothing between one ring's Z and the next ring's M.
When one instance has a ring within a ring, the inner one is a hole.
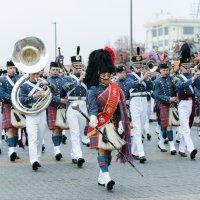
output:
M86 102L83 100L74 101L79 105L80 110L87 115ZM72 159L82 158L80 136L84 135L86 119L77 110L71 108L72 103L67 109L67 121L71 136L71 157Z

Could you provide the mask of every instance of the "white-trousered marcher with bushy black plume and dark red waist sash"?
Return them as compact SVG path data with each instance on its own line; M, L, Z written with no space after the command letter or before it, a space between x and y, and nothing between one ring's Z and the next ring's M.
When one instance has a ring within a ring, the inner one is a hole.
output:
M194 148L194 144L190 134L190 128L192 126L195 115L195 93L194 87L200 86L200 71L196 72L192 77L190 71L190 50L189 46L185 43L181 47L181 60L180 60L180 75L176 79L176 88L178 92L178 112L179 112L179 154L182 157L186 157L185 151L190 153L190 158L195 159L197 149ZM188 51L187 51L188 50ZM188 54L188 55L187 55ZM198 90L200 87L198 88Z

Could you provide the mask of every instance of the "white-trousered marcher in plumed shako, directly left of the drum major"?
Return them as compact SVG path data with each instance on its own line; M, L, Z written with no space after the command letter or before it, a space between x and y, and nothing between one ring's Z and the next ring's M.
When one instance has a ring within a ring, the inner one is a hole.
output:
M76 110L72 109L72 103L77 103L81 110L87 114L86 93L87 87L83 80L85 78L82 58L79 55L80 47L77 47L77 55L71 57L73 73L63 77L63 89L67 92L67 121L71 135L71 157L72 163L82 167L85 160L83 159L80 137L84 144L89 141L84 135L86 119Z

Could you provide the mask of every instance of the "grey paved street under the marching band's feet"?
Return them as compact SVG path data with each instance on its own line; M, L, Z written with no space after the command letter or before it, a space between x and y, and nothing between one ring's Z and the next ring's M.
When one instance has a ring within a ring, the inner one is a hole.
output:
M97 185L98 166L94 150L83 147L86 164L78 169L71 163L69 139L62 146L64 159L56 162L50 136L46 135L42 168L33 172L27 149L20 149L21 159L10 163L6 145L3 144L0 156L0 200L199 200L200 154L195 161L191 161L178 155L171 156L169 152L161 153L156 147L154 128L155 123L151 123L152 141L144 141L148 162L139 164L134 161L144 177L140 177L128 164L113 162L110 172L116 185L112 192ZM195 146L200 149L196 128L193 128L192 137Z

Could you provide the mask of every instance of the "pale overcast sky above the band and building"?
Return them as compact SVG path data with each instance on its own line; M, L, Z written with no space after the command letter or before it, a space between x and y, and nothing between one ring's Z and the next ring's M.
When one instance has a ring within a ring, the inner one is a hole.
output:
M189 17L195 0L133 0L133 38L144 42L144 24L159 10ZM14 43L26 36L41 38L54 60L54 26L58 45L69 63L80 45L88 54L120 36L129 35L130 0L0 0L0 65L11 58Z

